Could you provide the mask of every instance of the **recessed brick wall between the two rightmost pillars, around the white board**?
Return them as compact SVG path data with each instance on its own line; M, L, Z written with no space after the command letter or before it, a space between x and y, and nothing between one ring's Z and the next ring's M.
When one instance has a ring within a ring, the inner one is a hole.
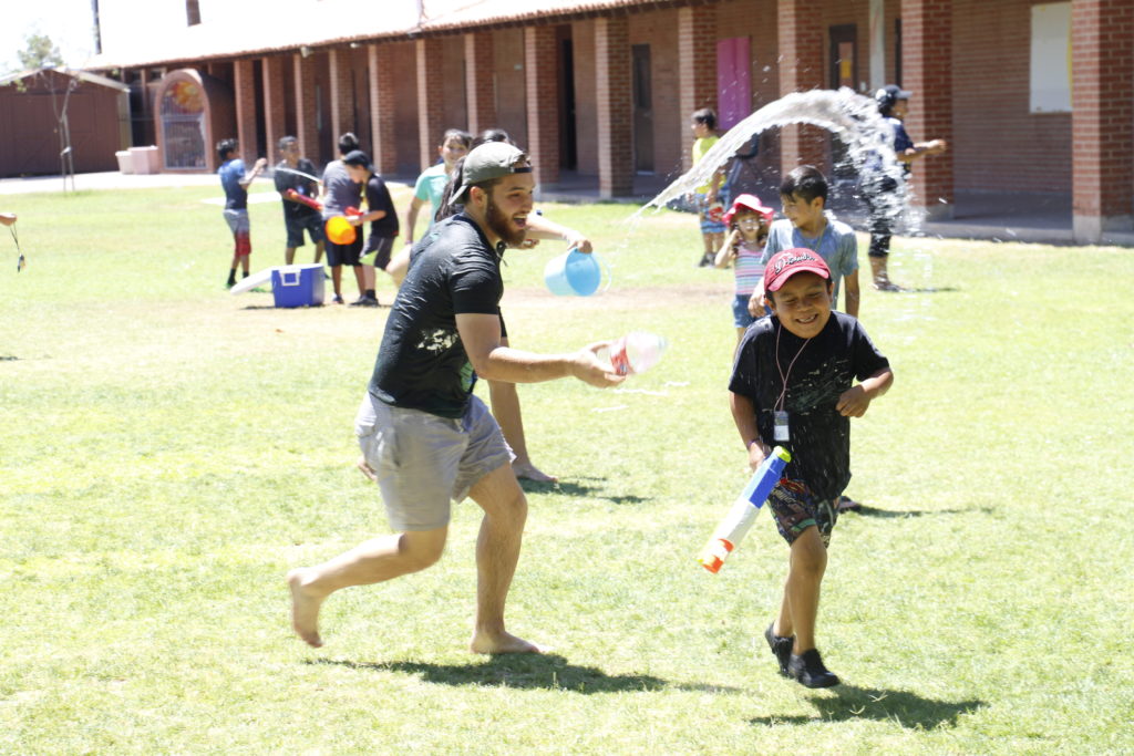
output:
M950 152L958 189L1070 190L1070 113L1029 112L1033 5L954 0ZM908 79L908 65L904 74ZM923 94L914 92L911 105ZM941 136L914 118L908 129L915 142Z

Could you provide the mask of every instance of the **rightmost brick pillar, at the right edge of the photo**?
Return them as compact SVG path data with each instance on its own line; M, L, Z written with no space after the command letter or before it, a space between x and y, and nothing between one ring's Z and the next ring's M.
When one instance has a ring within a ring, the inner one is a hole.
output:
M1082 0L1072 14L1075 235L1094 241L1134 214L1134 8Z

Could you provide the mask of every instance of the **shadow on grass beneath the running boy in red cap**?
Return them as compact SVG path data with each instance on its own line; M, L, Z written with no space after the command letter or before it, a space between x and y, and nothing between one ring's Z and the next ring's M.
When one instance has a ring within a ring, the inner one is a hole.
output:
M833 694L833 695L830 695ZM819 722L845 722L847 720L879 720L896 722L907 729L931 730L938 727L955 727L962 714L975 712L985 706L983 700L934 700L923 698L908 690L880 690L841 685L830 694L811 698L819 710L815 716L758 716L751 724L775 727L781 724L814 724Z

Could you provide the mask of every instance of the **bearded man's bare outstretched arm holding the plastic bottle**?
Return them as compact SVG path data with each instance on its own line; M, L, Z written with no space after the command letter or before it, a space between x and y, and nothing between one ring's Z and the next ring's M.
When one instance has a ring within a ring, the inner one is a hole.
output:
M500 345L500 316L458 314L457 332L473 369L488 381L506 383L540 383L561 377L577 377L600 389L617 385L625 376L613 372L610 363L599 359L599 349L607 341L592 343L569 355L539 355Z

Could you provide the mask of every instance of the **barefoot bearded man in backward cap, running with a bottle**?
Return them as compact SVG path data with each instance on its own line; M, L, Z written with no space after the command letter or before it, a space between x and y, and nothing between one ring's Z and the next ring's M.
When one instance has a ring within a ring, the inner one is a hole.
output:
M477 377L511 383L575 377L606 388L623 376L598 357L609 342L562 355L501 345L500 258L506 247L524 240L534 188L523 152L500 142L483 144L466 155L451 199L464 211L435 224L414 248L355 419L365 466L375 475L395 533L288 574L291 625L312 646L322 645L319 610L331 593L435 563L450 503L468 496L484 510L469 651L541 651L505 629L527 499L500 426L473 387Z

